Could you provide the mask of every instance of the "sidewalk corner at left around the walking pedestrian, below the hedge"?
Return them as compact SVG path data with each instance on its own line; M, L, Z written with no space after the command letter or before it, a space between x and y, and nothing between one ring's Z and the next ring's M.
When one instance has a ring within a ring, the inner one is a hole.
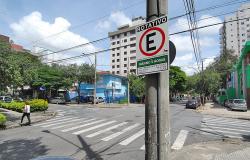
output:
M0 113L4 114L7 118L7 122L5 124L6 125L5 129L20 127L22 113L18 113L18 112L3 109L3 108L0 108ZM44 112L31 113L31 115L30 115L31 125L34 123L37 123L37 122L41 122L41 121L45 121L47 119L50 119L50 118L54 117L55 115L56 115L56 113L51 112L51 111L45 111L45 113ZM24 123L26 123L27 121L28 121L27 117L25 117Z

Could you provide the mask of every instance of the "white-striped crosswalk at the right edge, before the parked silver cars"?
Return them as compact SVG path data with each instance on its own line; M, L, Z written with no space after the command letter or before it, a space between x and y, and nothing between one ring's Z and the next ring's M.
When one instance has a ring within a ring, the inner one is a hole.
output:
M201 123L201 133L242 139L250 134L250 123L247 120L205 116Z

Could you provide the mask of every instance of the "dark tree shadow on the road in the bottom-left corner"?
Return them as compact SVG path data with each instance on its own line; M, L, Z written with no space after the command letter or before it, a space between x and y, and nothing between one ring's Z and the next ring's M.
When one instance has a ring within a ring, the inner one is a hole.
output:
M47 154L49 149L42 145L41 138L32 140L14 139L0 142L0 159L25 160Z

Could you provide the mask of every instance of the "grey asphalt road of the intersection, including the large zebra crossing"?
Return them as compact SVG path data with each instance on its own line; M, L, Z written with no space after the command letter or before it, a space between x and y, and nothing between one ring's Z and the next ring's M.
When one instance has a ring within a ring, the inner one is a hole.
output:
M28 160L39 156L144 159L144 107L50 105L50 110L57 111L58 116L32 126L0 131L0 159ZM204 117L194 110L181 104L171 104L170 110L173 149L222 138L203 134Z

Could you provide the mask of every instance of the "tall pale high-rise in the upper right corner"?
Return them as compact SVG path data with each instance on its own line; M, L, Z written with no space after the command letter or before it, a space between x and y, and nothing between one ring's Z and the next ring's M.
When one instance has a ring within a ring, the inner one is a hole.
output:
M221 52L232 50L235 55L240 56L244 44L250 40L249 8L250 3L243 4L235 14L225 17L225 23L220 29Z

